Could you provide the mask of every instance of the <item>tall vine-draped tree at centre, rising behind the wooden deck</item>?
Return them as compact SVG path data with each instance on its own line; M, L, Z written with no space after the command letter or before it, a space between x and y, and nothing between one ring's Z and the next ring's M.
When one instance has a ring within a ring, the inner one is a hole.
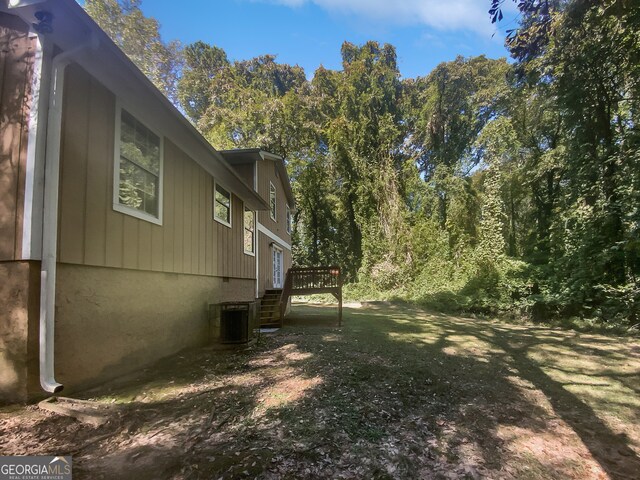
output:
M323 141L349 224L353 264L346 270L354 275L363 266L368 274L385 256L402 258L402 244L395 241L404 210L402 90L393 46L345 42L341 53L342 71L321 70L314 83L326 103Z

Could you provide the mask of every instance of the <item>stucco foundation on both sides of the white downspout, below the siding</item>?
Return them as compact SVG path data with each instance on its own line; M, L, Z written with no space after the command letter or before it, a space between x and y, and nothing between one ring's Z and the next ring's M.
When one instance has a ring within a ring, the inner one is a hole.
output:
M0 263L0 402L46 396L38 379L38 262ZM209 305L253 301L254 279L59 264L55 376L65 394L211 341Z

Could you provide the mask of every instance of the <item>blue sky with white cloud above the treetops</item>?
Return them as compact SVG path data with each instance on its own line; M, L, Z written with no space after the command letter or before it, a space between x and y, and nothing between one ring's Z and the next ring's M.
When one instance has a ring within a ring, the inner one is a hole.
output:
M393 44L403 77L428 74L456 55L507 56L489 0L143 0L165 40L203 40L232 60L263 54L304 67L339 69L345 40ZM177 8L179 5L179 8ZM507 18L513 18L513 13ZM507 25L504 27L510 28ZM513 26L513 23L512 25Z

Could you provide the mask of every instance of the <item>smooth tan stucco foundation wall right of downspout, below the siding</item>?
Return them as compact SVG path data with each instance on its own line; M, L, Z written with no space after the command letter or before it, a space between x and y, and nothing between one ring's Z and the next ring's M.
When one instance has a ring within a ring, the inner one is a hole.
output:
M252 279L59 264L55 371L65 392L209 341L208 304L251 301Z

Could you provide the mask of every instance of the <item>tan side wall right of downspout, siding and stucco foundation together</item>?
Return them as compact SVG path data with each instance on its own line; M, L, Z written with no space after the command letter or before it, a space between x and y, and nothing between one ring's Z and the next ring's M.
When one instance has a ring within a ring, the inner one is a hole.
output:
M98 80L67 67L55 330L56 379L65 391L205 345L208 305L255 295L242 200L232 195L231 228L215 221L214 179L168 136L162 225L113 209L116 108Z

